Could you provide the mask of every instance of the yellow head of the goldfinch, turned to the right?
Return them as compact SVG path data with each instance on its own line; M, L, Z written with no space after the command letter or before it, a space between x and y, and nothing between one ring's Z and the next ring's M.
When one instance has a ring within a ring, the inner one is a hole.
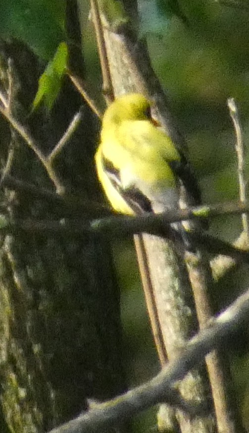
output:
M117 126L124 120L152 120L150 108L152 103L140 93L119 96L106 109L103 122Z

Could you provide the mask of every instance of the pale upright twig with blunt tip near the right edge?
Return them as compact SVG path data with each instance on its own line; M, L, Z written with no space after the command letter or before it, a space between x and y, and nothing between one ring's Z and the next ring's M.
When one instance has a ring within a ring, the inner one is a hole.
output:
M240 201L244 204L246 203L246 180L245 180L245 158L244 158L244 145L242 138L242 130L239 120L238 109L236 107L236 103L234 98L228 98L227 105L229 108L231 119L234 123L234 129L236 132L237 142L235 145L235 150L237 152L237 160L238 160L238 179L239 179L239 188L240 188ZM243 229L247 234L248 242L249 242L249 221L248 215L242 214L242 225Z

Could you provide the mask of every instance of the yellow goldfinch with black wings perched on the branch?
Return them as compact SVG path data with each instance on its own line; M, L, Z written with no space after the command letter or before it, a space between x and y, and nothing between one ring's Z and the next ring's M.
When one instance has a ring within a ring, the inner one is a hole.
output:
M158 129L150 108L147 98L132 93L116 98L103 115L97 173L113 209L123 214L179 209L180 183L193 204L200 203L188 162Z

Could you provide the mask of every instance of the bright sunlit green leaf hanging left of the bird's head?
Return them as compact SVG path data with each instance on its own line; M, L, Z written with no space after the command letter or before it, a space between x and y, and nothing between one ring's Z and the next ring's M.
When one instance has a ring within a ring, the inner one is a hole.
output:
M66 43L62 42L39 79L39 87L33 102L33 109L37 108L42 101L47 108L52 108L61 88L61 82L67 67L67 60L68 48Z

